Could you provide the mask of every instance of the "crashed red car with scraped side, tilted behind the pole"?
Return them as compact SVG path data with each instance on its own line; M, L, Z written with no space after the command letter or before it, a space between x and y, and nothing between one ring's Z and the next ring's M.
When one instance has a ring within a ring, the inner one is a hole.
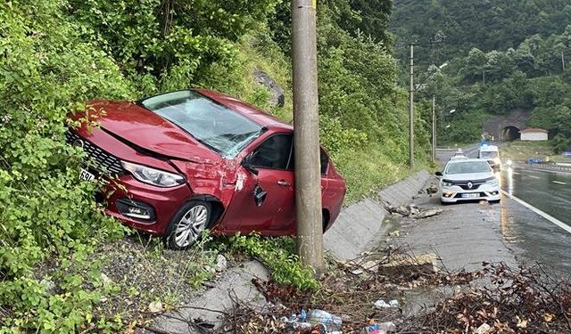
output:
M95 101L99 127L67 134L84 180L111 182L107 213L186 248L215 234L295 234L293 127L225 94L195 89L138 102ZM85 118L85 113L73 116ZM321 150L324 232L345 182Z

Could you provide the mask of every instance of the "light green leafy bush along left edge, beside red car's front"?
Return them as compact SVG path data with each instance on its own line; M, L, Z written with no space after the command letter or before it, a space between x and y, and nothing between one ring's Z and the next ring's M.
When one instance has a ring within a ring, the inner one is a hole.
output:
M84 289L98 277L87 255L123 233L93 200L100 184L79 181L80 153L65 145L64 133L76 102L133 91L77 30L64 20L62 2L0 5L0 307L11 315L0 332L94 323L100 293ZM53 268L52 283L39 281L42 264Z

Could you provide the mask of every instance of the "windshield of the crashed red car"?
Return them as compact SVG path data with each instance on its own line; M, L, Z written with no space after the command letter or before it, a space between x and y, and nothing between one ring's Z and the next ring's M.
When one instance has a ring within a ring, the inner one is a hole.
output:
M161 94L139 104L170 120L225 158L236 157L263 129L251 119L194 91Z

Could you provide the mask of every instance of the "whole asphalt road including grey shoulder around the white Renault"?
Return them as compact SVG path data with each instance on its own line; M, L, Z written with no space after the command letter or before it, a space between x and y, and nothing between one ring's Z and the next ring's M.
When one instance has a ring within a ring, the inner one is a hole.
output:
M471 156L475 151L465 150ZM439 151L439 159L447 161L452 152ZM484 261L539 262L548 271L571 277L571 175L506 168L501 183L505 194L500 204L442 206L437 195L421 195L415 200L418 206L443 208L443 213L403 222L402 242L417 254L436 253L450 270L480 269Z

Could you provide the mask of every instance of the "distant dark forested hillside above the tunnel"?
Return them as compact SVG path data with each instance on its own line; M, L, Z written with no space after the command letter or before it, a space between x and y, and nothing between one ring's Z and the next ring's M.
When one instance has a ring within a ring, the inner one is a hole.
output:
M396 1L392 29L401 63L403 45L420 43L418 80L428 87L420 97L434 94L440 110L457 110L441 116L450 125L443 142L474 142L485 119L524 109L530 126L550 130L556 149L571 143L567 1Z

